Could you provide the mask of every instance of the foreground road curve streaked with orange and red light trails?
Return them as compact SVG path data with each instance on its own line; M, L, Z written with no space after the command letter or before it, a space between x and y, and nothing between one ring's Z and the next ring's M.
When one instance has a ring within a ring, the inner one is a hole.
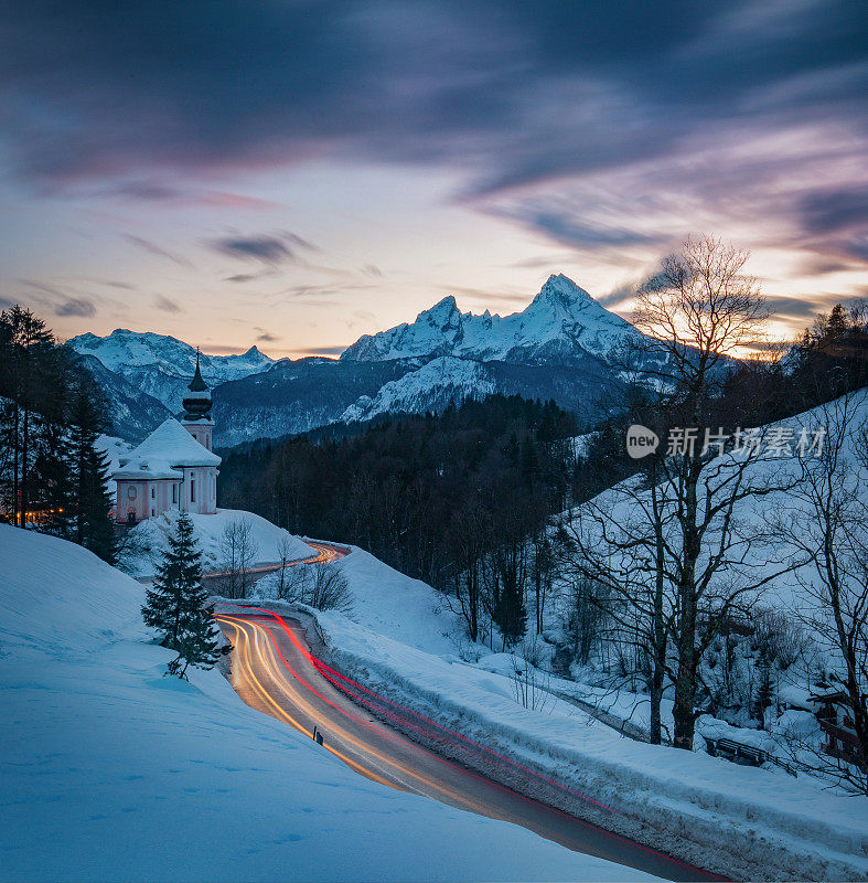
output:
M317 546L318 550L320 546ZM335 556L341 550L335 549ZM524 797L421 747L403 732L427 742L462 740L462 748L515 763L460 734L383 699L345 678L308 649L301 625L260 607L219 604L216 615L235 650L233 685L251 708L270 714L309 737L358 774L384 786L412 791L460 809L521 825L574 851L597 855L669 880L719 880L663 853ZM385 721L394 721L396 728ZM569 790L576 800L591 797L545 779L531 769L533 791ZM614 810L612 810L614 811Z

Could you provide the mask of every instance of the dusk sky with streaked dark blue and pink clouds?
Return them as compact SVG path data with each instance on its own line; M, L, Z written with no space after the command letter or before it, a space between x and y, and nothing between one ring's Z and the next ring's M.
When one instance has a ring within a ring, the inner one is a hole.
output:
M868 295L859 0L0 4L0 304L337 352L550 273L626 315L689 233L778 333Z

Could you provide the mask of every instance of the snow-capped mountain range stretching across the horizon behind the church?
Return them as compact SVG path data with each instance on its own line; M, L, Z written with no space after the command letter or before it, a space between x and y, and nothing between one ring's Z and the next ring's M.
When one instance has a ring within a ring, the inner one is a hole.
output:
M619 351L641 333L566 276L551 276L511 316L461 312L446 297L410 323L365 334L340 359L201 354L212 386L215 444L236 445L384 414L440 411L494 392L554 398L590 424L622 383ZM106 390L116 435L141 437L178 413L196 350L152 332L67 342ZM99 366L97 366L99 365ZM162 409L162 412L161 412Z

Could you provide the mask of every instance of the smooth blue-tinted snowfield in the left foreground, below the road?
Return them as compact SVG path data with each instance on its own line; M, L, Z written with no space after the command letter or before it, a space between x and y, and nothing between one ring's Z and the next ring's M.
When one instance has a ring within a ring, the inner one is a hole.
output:
M162 677L142 599L79 546L0 525L0 879L650 879L375 785L217 671Z

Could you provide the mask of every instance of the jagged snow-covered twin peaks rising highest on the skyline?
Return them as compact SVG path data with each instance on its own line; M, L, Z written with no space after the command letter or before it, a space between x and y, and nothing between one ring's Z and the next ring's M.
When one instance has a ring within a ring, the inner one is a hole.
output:
M522 312L461 312L452 296L399 325L360 338L342 360L383 361L456 355L478 361L564 362L607 357L639 336L630 322L603 309L564 275L550 276Z

